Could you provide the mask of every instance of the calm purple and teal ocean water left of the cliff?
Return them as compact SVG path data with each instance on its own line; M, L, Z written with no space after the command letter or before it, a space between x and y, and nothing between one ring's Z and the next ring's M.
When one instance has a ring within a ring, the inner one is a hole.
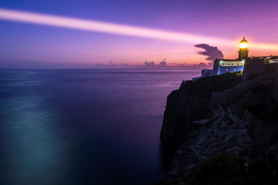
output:
M199 70L0 70L0 184L163 177L167 95Z

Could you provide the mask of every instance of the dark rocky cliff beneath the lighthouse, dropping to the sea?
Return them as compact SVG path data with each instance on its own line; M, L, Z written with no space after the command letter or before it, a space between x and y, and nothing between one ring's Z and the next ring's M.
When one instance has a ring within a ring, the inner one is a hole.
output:
M181 83L161 128L177 151L158 184L277 184L277 80L274 72L243 83L236 72Z

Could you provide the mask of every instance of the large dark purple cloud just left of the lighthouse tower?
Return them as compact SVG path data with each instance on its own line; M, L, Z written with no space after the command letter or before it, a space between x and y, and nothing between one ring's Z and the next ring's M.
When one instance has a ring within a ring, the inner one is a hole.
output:
M224 55L222 54L222 51L218 49L218 47L213 47L207 44L200 44L195 45L195 47L202 48L204 51L198 51L198 54L208 56L206 58L206 61L214 61L215 58L223 58Z

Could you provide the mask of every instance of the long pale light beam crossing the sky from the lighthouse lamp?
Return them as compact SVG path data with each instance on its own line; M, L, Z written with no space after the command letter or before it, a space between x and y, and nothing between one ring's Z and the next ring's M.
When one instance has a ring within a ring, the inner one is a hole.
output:
M85 31L112 33L117 35L129 35L142 38L170 40L175 42L187 42L191 44L208 43L210 45L217 45L218 47L231 47L233 45L238 45L238 43L236 43L235 40L227 40L224 38L214 38L190 33L179 33L160 29L148 29L138 26L113 24L108 22L97 22L87 19L76 19L56 15L46 15L41 13L30 13L19 10L8 10L3 8L0 8L0 19L15 22L26 22L32 24L44 24L48 26L65 27L69 29L80 29ZM252 47L257 49L278 50L278 45L275 44L253 43Z

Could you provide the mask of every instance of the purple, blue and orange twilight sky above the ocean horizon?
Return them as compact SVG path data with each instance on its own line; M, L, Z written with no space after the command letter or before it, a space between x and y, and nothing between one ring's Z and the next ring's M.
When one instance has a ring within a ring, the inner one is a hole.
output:
M57 17L71 21L71 26L57 26L0 19L0 67L30 62L38 67L149 66L152 61L196 66L211 63L196 45L217 47L224 58L236 58L243 35L250 56L278 55L277 8L278 1L272 0L0 0L0 12L51 15L49 24ZM84 20L107 29L80 28ZM121 33L115 33L117 26Z

